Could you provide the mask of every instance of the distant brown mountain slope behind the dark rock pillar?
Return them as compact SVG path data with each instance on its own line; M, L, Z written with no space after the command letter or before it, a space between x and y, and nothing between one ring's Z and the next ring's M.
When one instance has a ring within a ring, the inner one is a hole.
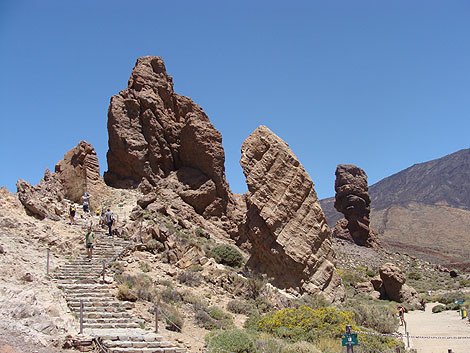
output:
M470 254L470 149L415 164L369 187L371 224L385 246L438 262ZM332 227L341 215L321 200Z

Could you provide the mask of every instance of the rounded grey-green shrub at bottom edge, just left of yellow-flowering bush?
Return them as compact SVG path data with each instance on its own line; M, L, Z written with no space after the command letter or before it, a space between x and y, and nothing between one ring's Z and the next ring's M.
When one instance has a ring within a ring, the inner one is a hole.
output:
M219 353L221 350L233 353L255 353L253 338L244 330L233 329L217 332L206 338L207 351Z

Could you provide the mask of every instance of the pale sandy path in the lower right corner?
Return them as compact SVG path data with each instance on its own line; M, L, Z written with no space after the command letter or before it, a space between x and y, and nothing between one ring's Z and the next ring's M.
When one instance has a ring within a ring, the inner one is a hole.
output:
M432 313L432 308L438 303L426 305L426 311L410 311L405 314L408 332L411 336L466 336L470 337L470 323L462 320L457 311L444 311ZM405 333L403 327L400 332ZM406 344L406 339L404 340ZM410 347L418 353L452 353L470 352L470 339L424 339L410 338Z

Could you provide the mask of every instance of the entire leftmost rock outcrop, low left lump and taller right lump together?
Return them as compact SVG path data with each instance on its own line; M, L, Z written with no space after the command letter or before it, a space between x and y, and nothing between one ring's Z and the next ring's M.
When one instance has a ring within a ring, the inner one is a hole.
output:
M67 210L65 200L81 203L85 191L95 200L106 193L96 152L85 141L65 154L56 164L54 173L46 169L39 184L32 186L20 179L16 188L23 206L40 219L58 219Z

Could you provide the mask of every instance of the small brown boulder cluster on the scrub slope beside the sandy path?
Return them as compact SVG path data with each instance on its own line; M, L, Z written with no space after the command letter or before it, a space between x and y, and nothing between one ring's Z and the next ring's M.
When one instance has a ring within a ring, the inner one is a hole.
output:
M386 263L379 269L379 275L370 282L358 283L356 294L366 294L373 298L393 300L398 303L408 303L418 307L418 292L406 283L403 271L392 263Z

